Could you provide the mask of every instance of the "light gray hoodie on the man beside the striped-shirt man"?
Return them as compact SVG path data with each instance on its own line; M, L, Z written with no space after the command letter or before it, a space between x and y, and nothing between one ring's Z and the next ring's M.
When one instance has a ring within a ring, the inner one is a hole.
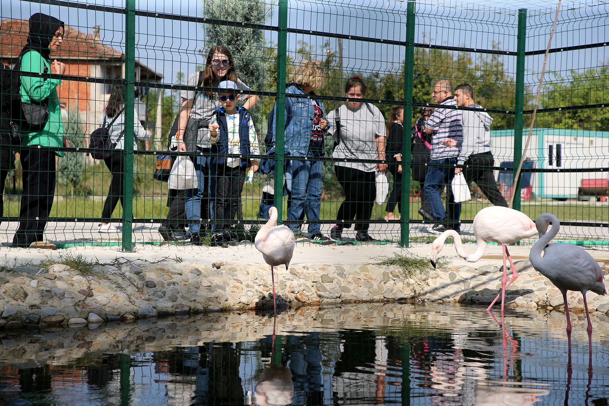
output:
M491 123L493 123L493 118L482 110L480 105L472 103L468 107L476 107L481 111L463 111L463 144L459 158L457 158L457 164L459 165L465 164L470 155L491 151Z

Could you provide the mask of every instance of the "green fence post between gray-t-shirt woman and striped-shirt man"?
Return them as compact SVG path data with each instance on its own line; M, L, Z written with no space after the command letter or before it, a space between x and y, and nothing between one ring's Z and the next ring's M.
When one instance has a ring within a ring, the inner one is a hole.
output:
M406 57L404 59L404 125L402 126L402 208L400 213L400 245L410 243L410 129L412 129L412 83L415 69L415 2L406 9ZM408 119L406 119L408 118ZM389 134L387 134L389 136Z

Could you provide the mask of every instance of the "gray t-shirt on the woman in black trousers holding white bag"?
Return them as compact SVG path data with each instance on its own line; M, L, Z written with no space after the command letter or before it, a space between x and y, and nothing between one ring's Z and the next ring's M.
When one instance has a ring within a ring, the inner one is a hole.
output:
M333 158L339 160L334 165L345 166L347 168L359 169L364 172L376 170L375 163L345 162L345 158L352 159L375 159L379 155L376 149L376 135L386 137L385 118L375 105L365 103L357 110L350 109L343 104L339 107L340 116L340 144L334 149ZM334 126L336 110L328 114L330 131L336 131Z

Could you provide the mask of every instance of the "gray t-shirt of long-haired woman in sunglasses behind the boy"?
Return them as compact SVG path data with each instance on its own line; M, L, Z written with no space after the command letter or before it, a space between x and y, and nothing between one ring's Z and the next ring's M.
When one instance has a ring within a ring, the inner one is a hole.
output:
M188 82L186 84L188 86L196 86L197 82L199 82L199 72L191 73L188 76ZM218 80L214 79L212 86L218 87L219 83ZM244 91L239 98L239 100L243 101L247 96L247 92L252 89L247 87L247 85L244 85L239 79L237 79L237 86ZM193 119L203 119L204 123L209 123L209 121L211 121L211 113L221 106L216 94L214 94L212 98L209 98L201 91L195 92L194 90L184 90L180 96L183 99L194 99L194 105L192 106L190 116ZM199 129L199 134L197 134L197 145L203 148L211 148L208 129Z

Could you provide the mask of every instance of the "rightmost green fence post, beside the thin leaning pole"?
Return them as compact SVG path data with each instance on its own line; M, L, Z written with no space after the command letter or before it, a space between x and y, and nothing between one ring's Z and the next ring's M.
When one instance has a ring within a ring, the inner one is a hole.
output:
M524 51L527 39L527 10L518 10L518 42L516 43L516 105L514 108L514 163L513 174L516 175L518 163L523 157L523 110L524 110ZM520 179L513 180L514 200L512 208L520 210Z

